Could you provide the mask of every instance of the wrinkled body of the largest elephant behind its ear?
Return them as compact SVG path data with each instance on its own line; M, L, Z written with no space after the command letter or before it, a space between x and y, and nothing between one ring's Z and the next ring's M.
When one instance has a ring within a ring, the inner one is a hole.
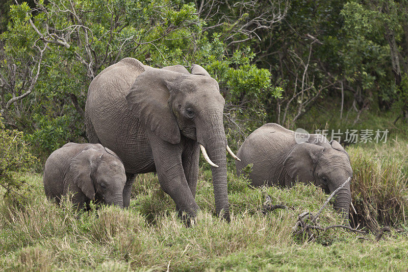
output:
M89 85L85 105L89 140L116 153L127 172L154 167L154 162L147 159L149 154L142 154L141 158L138 152L138 149L149 152L151 149L138 116L126 102L133 83L147 69L151 67L133 58L124 58L107 67Z

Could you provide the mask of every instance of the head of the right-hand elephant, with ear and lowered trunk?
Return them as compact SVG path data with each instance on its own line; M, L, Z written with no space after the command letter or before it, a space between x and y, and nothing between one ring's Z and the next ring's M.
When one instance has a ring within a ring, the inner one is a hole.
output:
M353 175L347 152L335 140L330 144L326 141L323 146L307 142L297 144L284 161L284 166L293 179L312 182L326 193L333 192ZM348 219L350 184L340 189L335 197L335 207Z

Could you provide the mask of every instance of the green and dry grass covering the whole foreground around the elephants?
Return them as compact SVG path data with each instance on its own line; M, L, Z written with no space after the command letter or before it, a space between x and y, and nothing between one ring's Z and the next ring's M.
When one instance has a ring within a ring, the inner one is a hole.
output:
M228 174L232 222L216 217L211 173L201 171L196 200L202 211L186 228L154 175L137 178L130 209L101 207L74 212L46 200L38 174L19 202L0 203L0 267L4 270L406 270L408 142L348 148L354 179L353 200L368 235L330 229L314 242L292 233L303 211L316 213L327 198L314 186L251 188ZM262 213L265 195L287 210ZM402 207L405 207L402 208ZM405 213L405 214L404 214ZM318 220L340 224L331 205ZM382 225L394 226L376 241ZM362 238L364 237L364 238Z

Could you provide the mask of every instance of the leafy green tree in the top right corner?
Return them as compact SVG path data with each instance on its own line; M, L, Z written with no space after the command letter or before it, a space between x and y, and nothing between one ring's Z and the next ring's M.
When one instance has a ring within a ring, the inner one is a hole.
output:
M344 58L348 80L359 82L369 96L377 93L380 105L390 108L396 102L399 114L408 119L408 106L402 106L406 102L402 77L408 72L408 2L350 1L342 15L348 33Z

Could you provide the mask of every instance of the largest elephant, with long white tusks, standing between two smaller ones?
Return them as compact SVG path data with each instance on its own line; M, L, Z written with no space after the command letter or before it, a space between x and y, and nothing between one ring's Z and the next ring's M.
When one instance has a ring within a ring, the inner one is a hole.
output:
M161 188L181 215L194 217L199 144L212 167L216 211L230 219L226 183L224 98L218 83L199 65L162 69L125 58L91 82L85 107L90 142L101 143L123 161L129 207L135 174L157 172Z

